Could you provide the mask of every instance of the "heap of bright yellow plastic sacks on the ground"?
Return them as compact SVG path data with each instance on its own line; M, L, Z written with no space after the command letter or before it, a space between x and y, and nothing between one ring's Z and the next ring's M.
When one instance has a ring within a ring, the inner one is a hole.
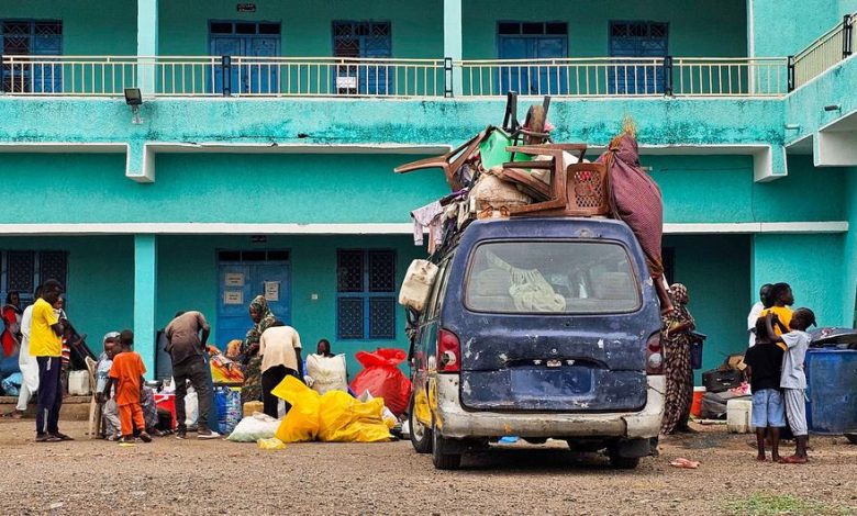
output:
M271 392L292 405L276 433L283 442L390 440L381 399L361 403L343 391L329 391L320 396L293 377L286 377Z

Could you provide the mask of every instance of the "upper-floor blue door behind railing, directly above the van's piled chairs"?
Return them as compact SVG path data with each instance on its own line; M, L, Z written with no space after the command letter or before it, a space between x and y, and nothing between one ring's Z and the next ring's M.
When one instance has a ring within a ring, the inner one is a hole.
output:
M500 59L561 59L568 57L568 23L501 21L497 24ZM504 94L565 94L568 92L565 66L516 65L501 67L494 80Z

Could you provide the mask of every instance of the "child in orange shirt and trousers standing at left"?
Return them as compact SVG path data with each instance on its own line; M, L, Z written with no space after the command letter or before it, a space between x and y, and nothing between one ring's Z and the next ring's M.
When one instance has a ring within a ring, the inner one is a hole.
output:
M134 333L125 329L119 336L119 354L113 358L113 367L110 368L104 397L110 397L110 388L115 382L115 400L122 426L121 442L134 442L135 427L140 430L143 442L152 442L152 437L146 434L146 422L143 417L143 407L140 405L146 367L140 354L131 350L133 345Z

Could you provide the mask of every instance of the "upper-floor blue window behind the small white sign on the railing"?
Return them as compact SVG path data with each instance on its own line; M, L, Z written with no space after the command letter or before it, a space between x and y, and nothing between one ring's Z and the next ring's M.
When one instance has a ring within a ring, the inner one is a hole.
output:
M333 56L392 57L392 24L387 21L334 21ZM393 74L382 65L341 65L333 86L340 94L392 94Z

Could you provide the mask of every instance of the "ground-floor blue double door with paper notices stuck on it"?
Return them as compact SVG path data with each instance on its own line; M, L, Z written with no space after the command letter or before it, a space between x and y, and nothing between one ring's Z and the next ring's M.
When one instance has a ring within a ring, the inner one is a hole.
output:
M288 261L221 260L218 285L216 343L221 347L230 340L244 339L253 326L249 303L257 295L265 295L278 319L291 324L291 273Z

